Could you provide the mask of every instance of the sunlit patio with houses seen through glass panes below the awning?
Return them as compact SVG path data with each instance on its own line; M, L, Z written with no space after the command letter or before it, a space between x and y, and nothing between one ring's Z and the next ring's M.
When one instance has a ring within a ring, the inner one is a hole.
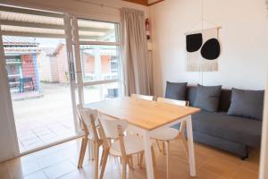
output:
M75 136L64 40L4 37L4 53L20 151ZM117 53L81 47L83 81L118 78ZM84 101L116 98L119 89L118 82L84 87Z

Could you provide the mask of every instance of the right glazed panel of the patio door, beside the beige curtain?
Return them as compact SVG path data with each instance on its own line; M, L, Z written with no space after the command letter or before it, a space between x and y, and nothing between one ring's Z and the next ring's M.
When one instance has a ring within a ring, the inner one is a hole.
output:
M121 96L120 24L78 19L83 102Z

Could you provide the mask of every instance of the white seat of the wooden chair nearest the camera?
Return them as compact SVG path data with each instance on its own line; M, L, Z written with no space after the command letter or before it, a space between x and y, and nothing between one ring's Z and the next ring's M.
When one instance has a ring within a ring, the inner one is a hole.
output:
M123 137L126 154L131 155L144 150L143 138L137 135L128 135ZM114 141L110 153L114 156L121 156L120 142Z

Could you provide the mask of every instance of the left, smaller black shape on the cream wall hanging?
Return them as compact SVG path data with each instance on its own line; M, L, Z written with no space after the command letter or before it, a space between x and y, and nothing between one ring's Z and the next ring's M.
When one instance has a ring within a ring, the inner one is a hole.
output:
M202 33L190 34L186 36L186 49L188 52L196 52L202 47Z

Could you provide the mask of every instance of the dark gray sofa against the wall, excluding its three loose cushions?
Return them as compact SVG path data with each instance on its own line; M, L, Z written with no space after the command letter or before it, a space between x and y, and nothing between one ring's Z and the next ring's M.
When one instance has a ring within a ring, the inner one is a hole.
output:
M186 99L192 106L197 87L187 87ZM201 111L192 115L194 141L248 157L248 147L257 148L261 142L262 122L227 115L231 90L222 90L217 113ZM178 126L176 127L178 128Z

